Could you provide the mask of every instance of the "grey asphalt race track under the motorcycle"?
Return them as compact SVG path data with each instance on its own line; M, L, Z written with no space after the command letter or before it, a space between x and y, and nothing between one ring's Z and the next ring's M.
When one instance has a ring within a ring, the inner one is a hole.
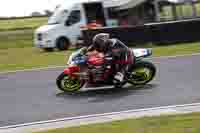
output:
M200 102L200 56L154 59L158 73L144 87L60 93L62 69L0 74L0 127L63 117Z

